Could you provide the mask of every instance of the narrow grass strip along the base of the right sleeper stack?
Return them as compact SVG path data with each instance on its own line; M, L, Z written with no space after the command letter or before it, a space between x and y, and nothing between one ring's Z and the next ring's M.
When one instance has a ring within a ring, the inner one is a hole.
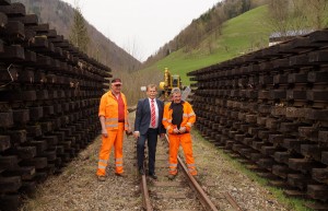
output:
M210 148L213 148L213 144L208 142L208 140L206 140L204 138L202 138L199 131L194 130L192 134L197 137L197 140L204 141ZM238 169L242 174L246 175L253 181L268 189L280 203L286 204L289 210L311 211L311 209L307 209L304 206L306 202L312 202L311 200L285 197L283 194L283 189L268 185L269 179L262 178L258 176L255 172L251 172L250 169L246 168L245 165L243 165L241 162L238 162L235 157L231 156L230 154L226 154L222 149L218 149L218 152L220 153L220 155L225 157L226 161L229 161L229 163L234 168Z

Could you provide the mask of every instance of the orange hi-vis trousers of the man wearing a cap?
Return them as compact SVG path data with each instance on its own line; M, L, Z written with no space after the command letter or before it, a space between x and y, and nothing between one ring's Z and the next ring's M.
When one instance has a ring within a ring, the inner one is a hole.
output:
M109 160L109 154L112 146L114 145L115 151L115 173L122 174L122 141L124 141L124 129L125 124L118 122L117 130L107 130L107 138L102 136L102 146L99 151L99 161L98 161L98 168L97 175L105 176L106 175L106 167Z

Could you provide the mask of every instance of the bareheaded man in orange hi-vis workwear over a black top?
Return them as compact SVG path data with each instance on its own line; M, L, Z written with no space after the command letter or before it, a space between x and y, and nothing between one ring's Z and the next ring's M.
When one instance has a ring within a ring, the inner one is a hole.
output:
M191 175L197 175L195 160L192 156L192 143L190 130L196 121L196 115L188 102L181 101L181 91L172 90L172 102L164 107L163 125L169 139L169 179L177 175L177 154L181 144L188 171Z

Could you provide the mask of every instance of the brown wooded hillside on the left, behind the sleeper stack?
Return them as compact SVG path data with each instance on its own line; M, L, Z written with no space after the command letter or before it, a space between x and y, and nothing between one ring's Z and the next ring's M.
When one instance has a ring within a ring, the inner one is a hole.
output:
M60 0L12 0L26 7L27 13L35 13L40 23L49 23L58 34L67 39L73 23L74 10ZM140 67L140 61L106 38L94 26L87 23L90 46L87 55L110 67L113 71L133 71Z

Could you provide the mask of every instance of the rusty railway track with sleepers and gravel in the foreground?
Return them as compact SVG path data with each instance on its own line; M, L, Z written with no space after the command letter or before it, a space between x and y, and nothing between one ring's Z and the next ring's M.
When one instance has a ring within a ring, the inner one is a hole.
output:
M140 177L140 187L144 210L236 210L242 208L229 192L214 195L206 191L199 178L195 178L181 159L178 156L179 174L174 180L167 178L167 144L168 138L159 141L156 172L159 179L154 180L145 175ZM147 166L147 165L145 165Z

